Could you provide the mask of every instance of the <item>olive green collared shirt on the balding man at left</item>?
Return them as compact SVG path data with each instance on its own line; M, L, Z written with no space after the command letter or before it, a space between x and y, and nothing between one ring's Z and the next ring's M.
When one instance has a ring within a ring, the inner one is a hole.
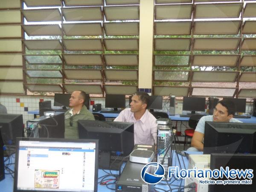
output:
M83 106L81 110L73 115L73 109L65 112L65 138L79 139L78 120L95 120L93 113Z

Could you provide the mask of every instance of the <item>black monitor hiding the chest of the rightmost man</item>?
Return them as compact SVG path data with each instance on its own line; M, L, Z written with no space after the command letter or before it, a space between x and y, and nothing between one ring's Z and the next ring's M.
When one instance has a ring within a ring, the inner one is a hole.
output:
M205 122L204 154L256 154L256 123Z

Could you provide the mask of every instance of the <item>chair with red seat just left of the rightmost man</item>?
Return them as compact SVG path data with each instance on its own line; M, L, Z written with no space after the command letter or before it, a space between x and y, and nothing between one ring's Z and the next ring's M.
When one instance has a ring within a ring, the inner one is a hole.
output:
M189 118L189 129L186 129L185 132L185 138L184 138L184 151L187 148L188 145L188 139L192 138L195 132L195 128L198 124L199 119L201 119L201 117L204 115L200 115L200 114L195 114L190 116Z

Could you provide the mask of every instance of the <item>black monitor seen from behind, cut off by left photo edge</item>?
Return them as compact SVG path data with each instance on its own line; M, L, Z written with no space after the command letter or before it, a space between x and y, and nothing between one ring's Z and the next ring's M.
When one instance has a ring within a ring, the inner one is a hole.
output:
M0 130L5 145L15 145L16 137L23 137L21 114L0 114Z

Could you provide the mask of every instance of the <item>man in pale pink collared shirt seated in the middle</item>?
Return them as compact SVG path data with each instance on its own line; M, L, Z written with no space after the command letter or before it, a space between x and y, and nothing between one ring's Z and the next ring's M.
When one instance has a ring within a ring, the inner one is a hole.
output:
M157 119L146 110L148 99L148 93L134 93L131 98L131 108L121 111L114 120L134 123L134 144L154 145L157 143Z

